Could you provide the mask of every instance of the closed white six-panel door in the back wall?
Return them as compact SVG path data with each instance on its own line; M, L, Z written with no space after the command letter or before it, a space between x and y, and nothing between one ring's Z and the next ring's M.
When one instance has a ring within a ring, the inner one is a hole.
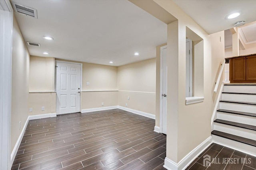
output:
M81 65L56 62L56 113L80 112Z

